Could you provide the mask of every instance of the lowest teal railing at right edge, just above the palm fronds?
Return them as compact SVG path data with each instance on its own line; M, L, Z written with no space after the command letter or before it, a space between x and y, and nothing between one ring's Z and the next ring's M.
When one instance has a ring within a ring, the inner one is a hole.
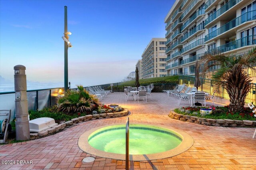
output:
M256 35L250 35L247 37L243 37L236 41L232 41L230 43L221 45L220 47L216 47L214 49L208 50L205 53L210 53L210 54L224 53L226 51L238 49L238 48L245 47L248 45L256 45Z

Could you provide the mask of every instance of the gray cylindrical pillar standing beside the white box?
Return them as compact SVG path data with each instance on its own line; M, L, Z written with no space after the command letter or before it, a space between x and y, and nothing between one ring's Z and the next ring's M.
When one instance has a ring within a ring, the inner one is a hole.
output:
M15 127L16 140L25 141L30 139L28 120L28 99L26 67L22 65L14 66L14 90L15 90Z

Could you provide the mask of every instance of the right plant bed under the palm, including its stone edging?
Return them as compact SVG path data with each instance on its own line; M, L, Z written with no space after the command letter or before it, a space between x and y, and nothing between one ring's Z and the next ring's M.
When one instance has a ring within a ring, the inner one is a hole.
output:
M244 113L229 113L228 106L212 107L211 114L200 114L200 108L202 107L180 107L170 111L169 117L207 126L256 127L256 120L250 108L244 108Z

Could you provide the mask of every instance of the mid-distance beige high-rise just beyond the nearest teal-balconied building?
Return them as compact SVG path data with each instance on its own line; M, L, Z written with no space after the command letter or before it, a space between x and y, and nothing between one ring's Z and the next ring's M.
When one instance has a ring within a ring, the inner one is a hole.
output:
M152 38L142 54L142 78L166 76L165 38Z

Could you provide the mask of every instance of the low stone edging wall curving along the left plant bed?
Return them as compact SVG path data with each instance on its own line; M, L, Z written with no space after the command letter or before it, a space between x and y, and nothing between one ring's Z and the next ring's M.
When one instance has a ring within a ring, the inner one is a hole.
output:
M116 113L100 113L95 115L86 115L77 117L74 119L71 119L70 121L66 121L65 123L60 123L50 129L46 129L45 131L41 131L39 133L30 133L30 137L43 137L46 135L49 135L51 133L54 133L56 131L59 131L60 129L64 129L67 126L74 125L76 123L81 123L83 121L90 121L95 119L104 119L104 118L112 118L112 117L122 117L128 115L128 109L124 109L123 111L116 112Z

